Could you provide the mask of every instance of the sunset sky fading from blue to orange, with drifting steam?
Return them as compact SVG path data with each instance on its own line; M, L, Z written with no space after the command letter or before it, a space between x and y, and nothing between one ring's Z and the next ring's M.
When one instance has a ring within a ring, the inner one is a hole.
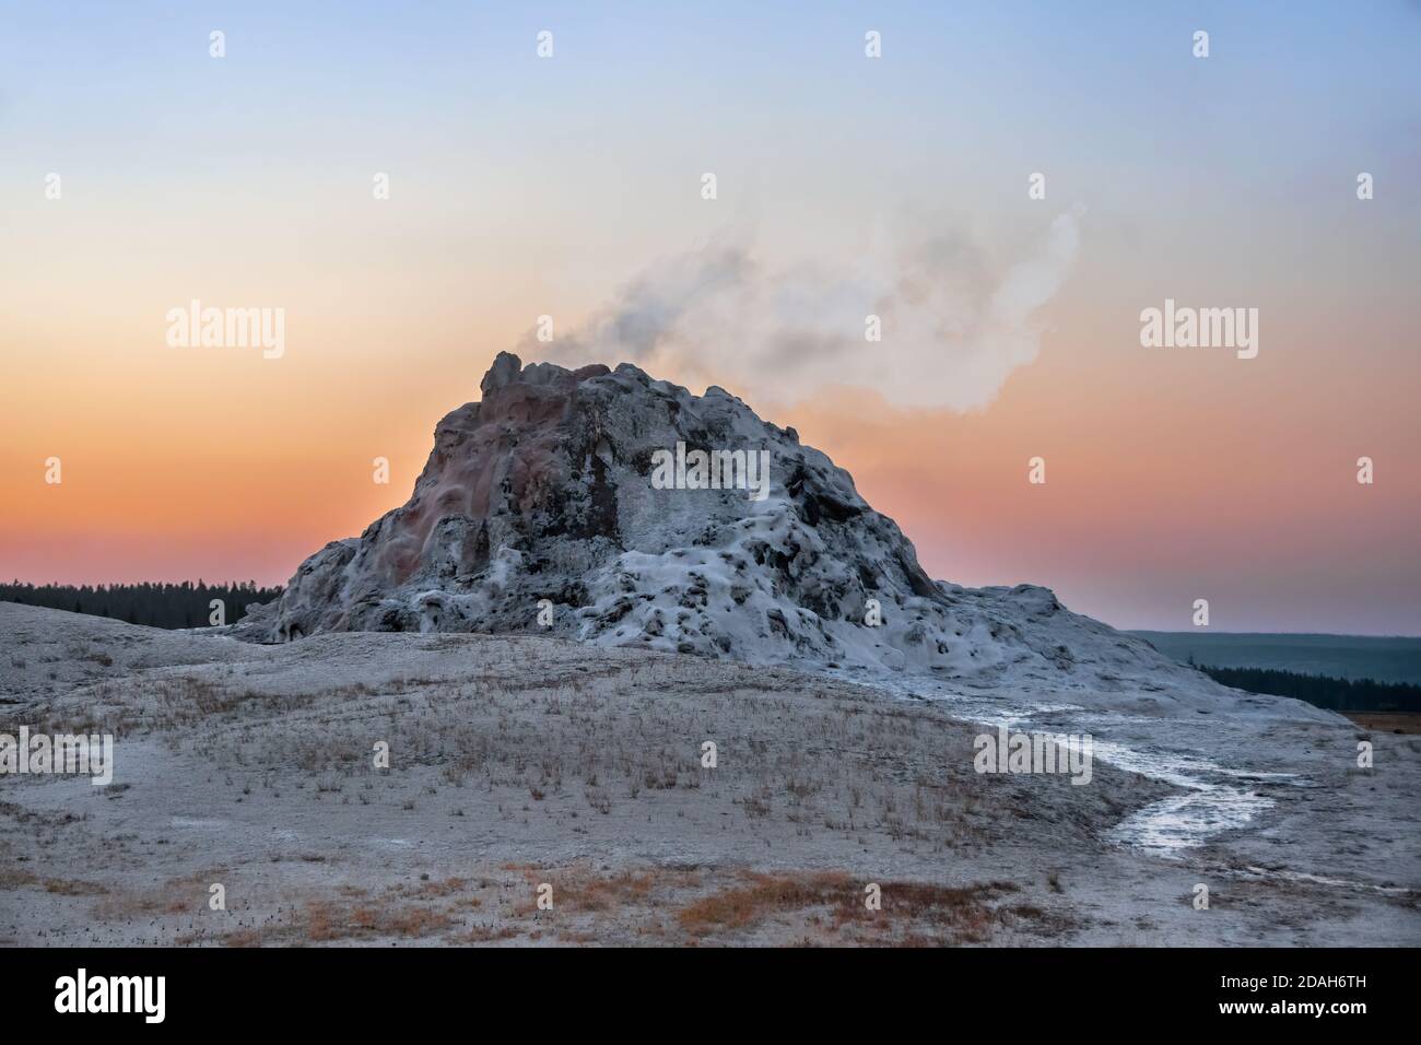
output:
M283 583L510 348L729 388L935 577L1421 634L1418 45L1407 0L0 0L0 576ZM1142 345L1167 299L1256 357ZM280 355L175 347L192 300Z

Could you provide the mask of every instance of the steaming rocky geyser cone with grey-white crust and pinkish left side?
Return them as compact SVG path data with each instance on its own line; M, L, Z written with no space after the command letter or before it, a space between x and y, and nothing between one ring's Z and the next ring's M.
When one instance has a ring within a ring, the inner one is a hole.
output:
M1046 589L931 580L847 472L720 388L500 353L480 390L439 422L409 500L307 559L239 636L524 631L938 677L1184 671ZM678 442L766 451L767 496L659 489L657 452Z

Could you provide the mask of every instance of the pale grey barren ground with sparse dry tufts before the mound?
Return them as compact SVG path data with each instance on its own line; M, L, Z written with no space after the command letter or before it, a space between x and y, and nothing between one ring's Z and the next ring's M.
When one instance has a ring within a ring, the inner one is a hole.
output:
M0 944L1421 944L1414 735L1191 722L1310 786L1164 859L1110 832L1171 785L978 775L951 700L533 637L0 636L0 732L117 736L109 786L0 778Z

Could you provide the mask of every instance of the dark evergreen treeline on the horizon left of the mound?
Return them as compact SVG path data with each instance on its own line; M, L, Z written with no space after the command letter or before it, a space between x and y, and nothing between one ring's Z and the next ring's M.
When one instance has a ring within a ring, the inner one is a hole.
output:
M281 594L280 587L257 587L254 580L244 583L196 584L185 580L182 584L0 584L0 601L24 603L26 606L47 606L51 610L91 613L95 617L126 620L129 624L148 624L159 628L207 627L212 617L212 600L220 599L226 606L227 624L236 624L246 613L249 603L267 603Z

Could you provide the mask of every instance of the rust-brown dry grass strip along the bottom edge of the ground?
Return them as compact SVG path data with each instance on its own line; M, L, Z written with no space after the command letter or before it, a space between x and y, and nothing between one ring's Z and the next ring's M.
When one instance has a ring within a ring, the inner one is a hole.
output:
M102 921L151 921L206 916L209 872L141 893L101 896ZM43 880L10 872L0 886L34 886L64 896L101 893L85 881ZM553 886L553 907L539 910L539 886ZM870 944L891 947L980 944L1000 930L1034 937L1070 928L1060 914L1003 897L1007 881L942 886L881 883L881 909L868 910L865 881L838 870L756 872L715 867L624 867L585 863L539 867L504 863L468 877L421 877L369 891L337 884L324 894L287 897L283 913L263 926L227 928L215 914L209 927L176 938L179 944L229 947L328 945L432 941L496 944L546 940L561 945L639 944ZM271 901L269 900L269 904ZM274 906L274 904L273 904ZM270 909L270 907L269 907Z

